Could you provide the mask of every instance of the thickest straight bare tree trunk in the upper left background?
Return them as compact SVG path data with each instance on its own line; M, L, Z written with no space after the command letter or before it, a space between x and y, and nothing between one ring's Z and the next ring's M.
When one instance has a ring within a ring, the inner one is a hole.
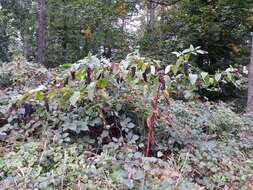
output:
M45 0L38 0L37 5L37 62L45 62Z

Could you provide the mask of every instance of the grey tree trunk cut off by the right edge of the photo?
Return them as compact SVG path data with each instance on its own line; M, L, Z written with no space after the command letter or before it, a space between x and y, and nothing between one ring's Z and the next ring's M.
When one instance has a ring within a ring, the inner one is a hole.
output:
M248 87L248 103L247 111L253 116L253 32L251 33L251 57L250 57L250 70L249 70L249 87Z

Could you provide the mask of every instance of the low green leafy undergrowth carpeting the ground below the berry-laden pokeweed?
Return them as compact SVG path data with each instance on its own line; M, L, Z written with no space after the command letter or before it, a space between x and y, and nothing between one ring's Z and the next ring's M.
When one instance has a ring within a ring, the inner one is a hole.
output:
M3 144L1 189L250 189L252 119L224 103L171 101L164 109L171 124L156 127L150 158L144 136L115 138L101 151L89 137L24 128L34 134L28 142Z

